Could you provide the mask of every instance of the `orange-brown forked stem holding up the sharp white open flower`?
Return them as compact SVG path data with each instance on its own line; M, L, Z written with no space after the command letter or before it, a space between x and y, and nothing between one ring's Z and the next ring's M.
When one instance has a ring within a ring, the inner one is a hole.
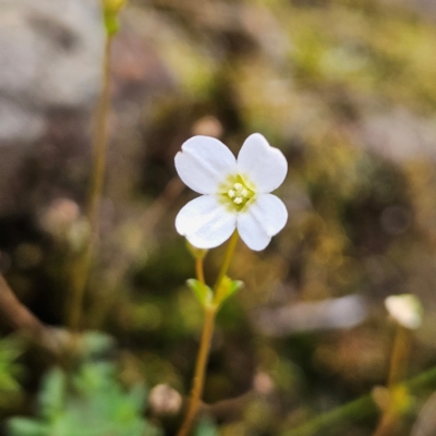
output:
M238 239L239 239L239 235L238 235L238 232L235 231L232 234L232 237L230 238L229 244L227 245L226 255L222 261L221 269L218 274L217 282L214 288L215 291L219 288L221 280L223 279L223 277L227 274L227 270L229 269L230 261L233 256L234 249L238 243ZM205 284L204 272L203 272L203 258L196 259L195 270L196 270L197 280L202 284ZM202 332L202 339L199 342L197 360L195 363L195 373L194 373L194 378L193 378L193 383L192 383L191 398L190 398L190 402L187 405L186 415L185 415L182 426L178 433L178 436L187 436L190 434L192 424L197 415L199 401L201 401L202 395L203 395L204 380L205 380L205 374L206 374L206 365L207 365L207 361L209 358L210 342L211 342L211 338L214 335L214 328L215 328L215 317L219 310L219 305L217 305L215 303L209 303L204 306L204 310L205 310L205 319L204 319L204 325L203 325L203 332Z

